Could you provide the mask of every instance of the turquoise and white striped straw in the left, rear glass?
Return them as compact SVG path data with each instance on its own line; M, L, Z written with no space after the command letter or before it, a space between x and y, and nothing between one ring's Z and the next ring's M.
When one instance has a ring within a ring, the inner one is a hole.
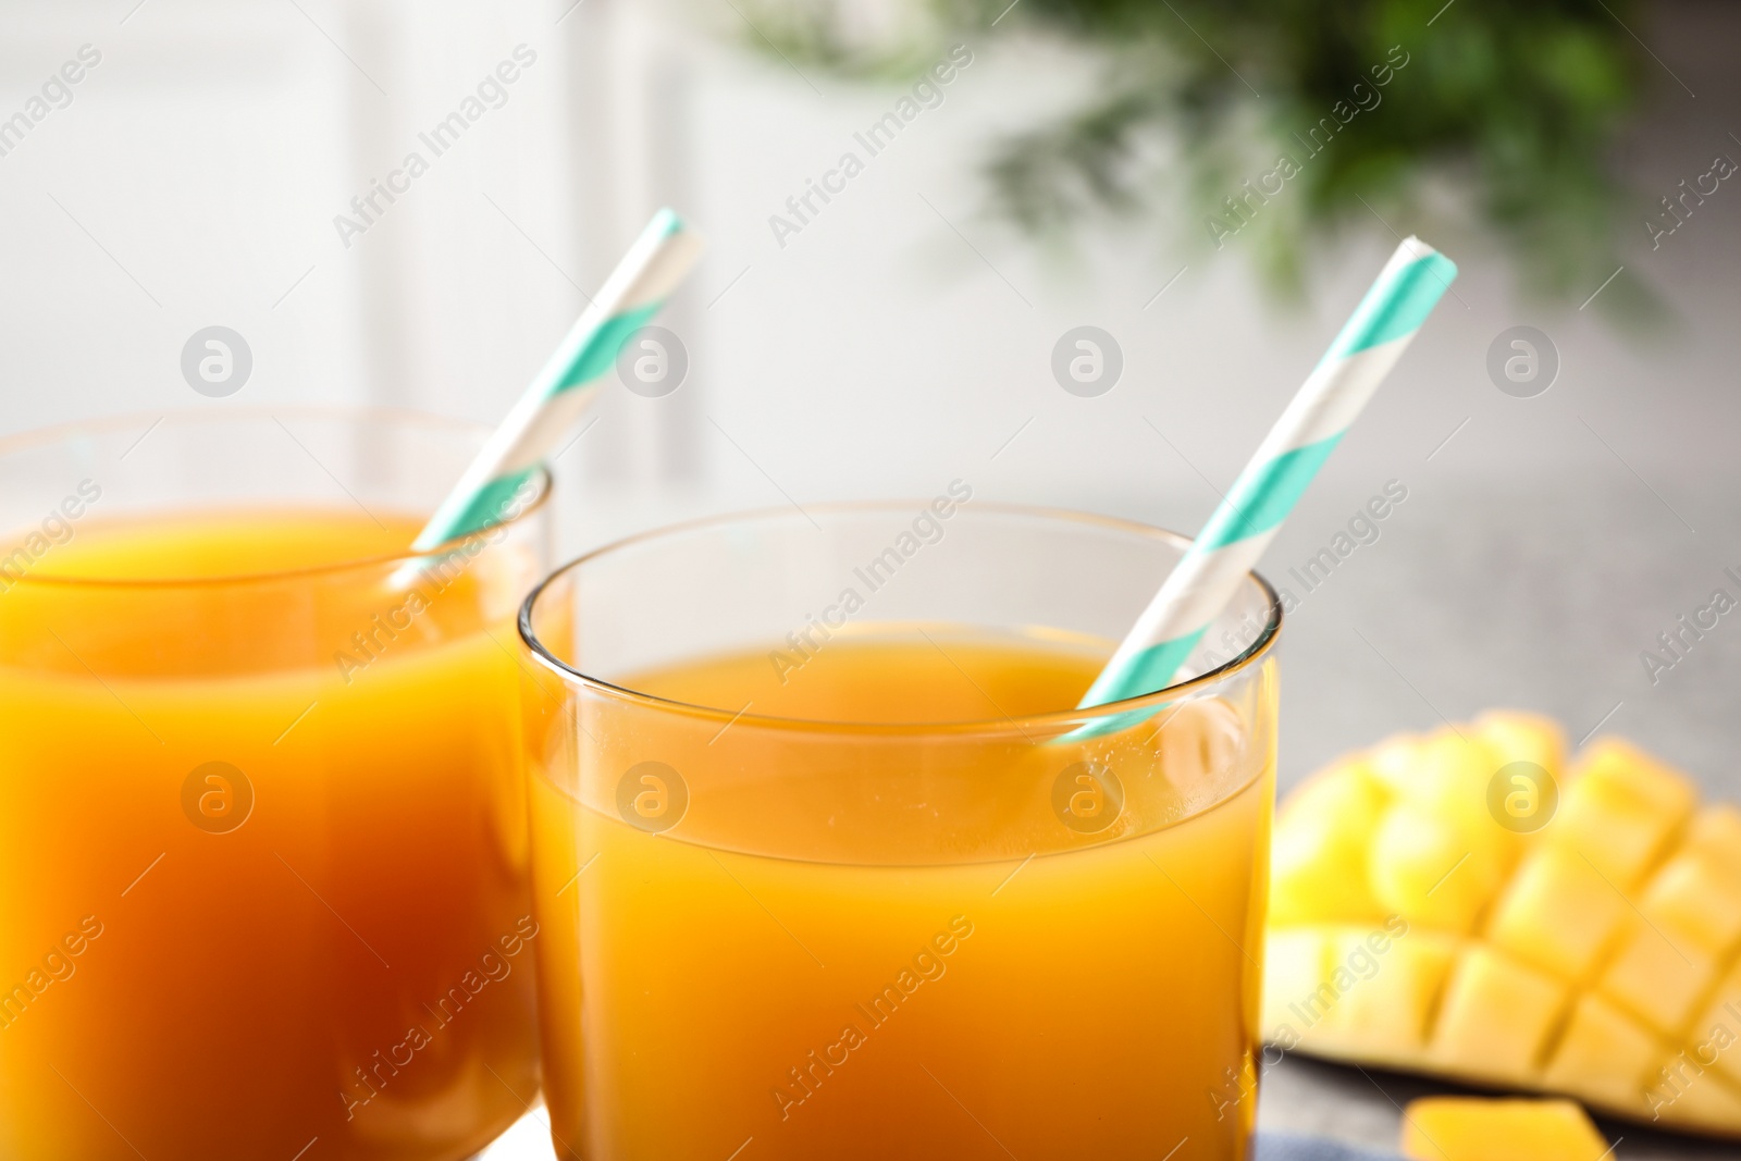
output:
M658 313L700 254L700 235L677 214L669 209L653 214L599 296L411 541L414 552L428 552L508 515L514 494L597 395L594 388L616 364L623 341Z

